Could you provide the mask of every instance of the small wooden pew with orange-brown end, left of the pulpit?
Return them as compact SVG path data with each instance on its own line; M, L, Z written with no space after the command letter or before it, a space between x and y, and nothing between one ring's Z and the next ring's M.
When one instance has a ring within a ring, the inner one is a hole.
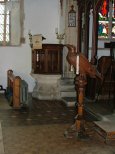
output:
M28 103L28 84L20 76L15 76L13 70L7 71L6 96L13 108L21 108Z

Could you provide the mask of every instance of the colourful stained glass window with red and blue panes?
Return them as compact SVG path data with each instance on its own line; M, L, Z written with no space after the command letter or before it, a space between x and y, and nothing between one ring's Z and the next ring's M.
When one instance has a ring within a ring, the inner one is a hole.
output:
M98 15L98 37L115 38L115 0L104 0Z

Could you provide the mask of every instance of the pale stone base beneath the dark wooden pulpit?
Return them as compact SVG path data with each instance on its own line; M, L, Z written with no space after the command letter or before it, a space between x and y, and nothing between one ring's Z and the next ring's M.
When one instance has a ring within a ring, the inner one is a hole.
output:
M59 79L61 75L31 74L35 79L32 97L40 100L60 99Z

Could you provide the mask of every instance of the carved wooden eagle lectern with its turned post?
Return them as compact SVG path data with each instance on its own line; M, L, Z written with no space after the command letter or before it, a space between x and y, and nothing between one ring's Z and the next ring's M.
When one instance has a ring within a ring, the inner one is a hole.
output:
M75 77L75 86L78 98L78 111L75 120L75 129L76 135L78 138L86 137L85 126L84 126L84 93L85 86L87 84L86 76L90 76L93 78L99 77L100 74L97 70L89 63L87 58L82 53L77 53L76 48L72 45L66 45L68 48L67 61L70 65L76 70ZM69 132L66 132L65 135L68 135Z

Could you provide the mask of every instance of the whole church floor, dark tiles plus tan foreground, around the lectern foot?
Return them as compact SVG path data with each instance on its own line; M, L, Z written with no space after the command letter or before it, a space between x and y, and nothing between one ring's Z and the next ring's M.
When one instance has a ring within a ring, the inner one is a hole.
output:
M62 101L32 99L28 108L14 110L0 95L0 154L115 154L115 145L105 144L86 117L88 140L64 133L74 123L75 108Z

